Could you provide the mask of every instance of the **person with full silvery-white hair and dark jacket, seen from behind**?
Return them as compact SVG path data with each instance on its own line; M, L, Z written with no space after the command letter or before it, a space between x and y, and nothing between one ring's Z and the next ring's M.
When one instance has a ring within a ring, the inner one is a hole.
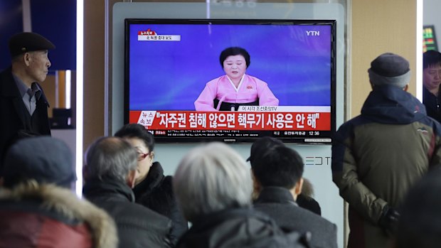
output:
M173 183L184 216L193 224L176 247L303 247L304 237L285 234L270 217L251 209L250 171L226 144L192 149Z

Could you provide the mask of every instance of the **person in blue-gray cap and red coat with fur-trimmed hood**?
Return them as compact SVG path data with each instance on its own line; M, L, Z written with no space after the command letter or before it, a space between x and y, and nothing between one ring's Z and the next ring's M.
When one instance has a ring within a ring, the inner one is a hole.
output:
M6 153L0 185L0 248L117 247L112 218L73 193L68 146L50 136L21 139Z

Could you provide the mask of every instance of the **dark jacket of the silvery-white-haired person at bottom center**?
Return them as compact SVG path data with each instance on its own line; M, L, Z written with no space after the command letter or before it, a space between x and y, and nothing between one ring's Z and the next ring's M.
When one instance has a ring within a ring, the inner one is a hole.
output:
M251 209L214 212L193 222L176 248L300 248L307 237L285 234L274 220Z

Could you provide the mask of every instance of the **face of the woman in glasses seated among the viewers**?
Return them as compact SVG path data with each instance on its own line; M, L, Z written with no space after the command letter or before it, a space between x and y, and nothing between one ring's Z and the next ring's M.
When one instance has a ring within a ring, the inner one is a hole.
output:
M137 176L134 180L135 185L137 185L138 183L141 183L149 173L150 167L152 167L154 154L153 151L149 151L149 148L147 148L142 139L134 137L126 137L124 139L128 141L138 153Z

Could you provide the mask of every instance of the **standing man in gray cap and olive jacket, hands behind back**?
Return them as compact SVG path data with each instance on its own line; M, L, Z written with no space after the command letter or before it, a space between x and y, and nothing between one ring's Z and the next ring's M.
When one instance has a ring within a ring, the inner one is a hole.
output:
M384 53L368 70L361 114L332 144L332 177L349 203L348 247L388 247L408 189L441 162L441 125L407 92L408 60Z

